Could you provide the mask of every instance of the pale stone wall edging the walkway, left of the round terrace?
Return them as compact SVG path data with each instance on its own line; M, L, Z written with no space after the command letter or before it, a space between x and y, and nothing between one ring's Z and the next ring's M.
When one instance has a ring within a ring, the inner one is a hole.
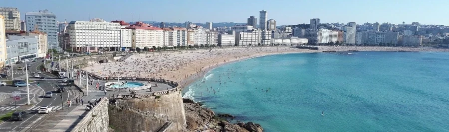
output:
M107 98L102 98L71 132L107 132L109 126L108 102Z

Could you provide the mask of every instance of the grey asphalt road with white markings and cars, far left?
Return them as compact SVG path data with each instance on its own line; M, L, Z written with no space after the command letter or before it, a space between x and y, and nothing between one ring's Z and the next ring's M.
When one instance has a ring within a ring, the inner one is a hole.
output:
M75 87L66 86L64 83L61 83L60 80L56 76L50 74L40 73L40 76L44 76L44 80L38 80L37 78L33 78L33 73L37 70L38 66L43 63L41 60L37 60L37 62L30 63L28 70L28 79L35 80L35 82L30 83L29 85L29 100L30 105L26 105L28 103L27 96L27 88L23 87L13 87L11 85L0 86L0 115L5 114L7 112L13 111L14 101L12 100L11 93L13 91L20 91L21 99L16 101L17 110L24 110L29 113L28 117L23 121L11 121L7 120L5 122L0 123L0 132L20 132L29 130L29 128L38 126L39 123L46 119L46 116L51 116L51 112L49 114L38 114L37 110L40 106L50 106L53 108L53 111L61 110L61 104L64 104L64 107L67 107L67 100L74 100L76 97L82 97L83 93L80 92ZM18 66L25 66L25 64L13 65L12 69L16 69ZM20 78L25 79L25 71L14 70L14 80L18 80ZM8 78L12 77L8 75ZM53 80L54 79L54 80ZM39 82L39 85L37 85ZM64 92L57 92L59 88L65 89ZM53 97L45 98L45 92L53 92ZM62 100L60 95L62 94ZM74 102L74 101L72 101Z

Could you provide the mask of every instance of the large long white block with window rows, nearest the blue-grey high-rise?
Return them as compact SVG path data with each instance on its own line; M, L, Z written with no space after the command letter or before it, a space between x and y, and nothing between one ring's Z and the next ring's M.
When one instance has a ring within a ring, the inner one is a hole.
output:
M120 24L114 22L71 21L68 25L70 46L74 51L98 52L121 47Z

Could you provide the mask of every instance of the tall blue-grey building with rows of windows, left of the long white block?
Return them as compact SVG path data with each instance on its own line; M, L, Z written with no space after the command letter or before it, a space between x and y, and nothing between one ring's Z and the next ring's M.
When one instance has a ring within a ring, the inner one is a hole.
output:
M25 12L25 20L28 32L34 30L34 25L38 25L39 31L47 33L48 49L58 49L56 15L48 10Z

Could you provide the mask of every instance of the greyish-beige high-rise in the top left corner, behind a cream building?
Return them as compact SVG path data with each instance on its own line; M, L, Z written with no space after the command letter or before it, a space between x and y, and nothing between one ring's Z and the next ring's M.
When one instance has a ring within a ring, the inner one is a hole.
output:
M0 7L0 15L4 17L5 30L20 31L20 12L17 8Z

